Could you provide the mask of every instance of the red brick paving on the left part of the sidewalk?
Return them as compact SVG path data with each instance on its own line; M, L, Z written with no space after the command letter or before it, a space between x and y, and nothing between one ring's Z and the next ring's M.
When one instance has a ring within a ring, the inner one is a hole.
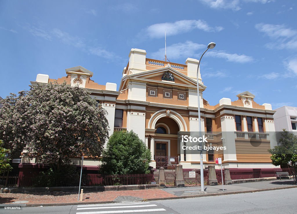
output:
M15 201L29 201L26 204L62 204L78 202L78 193L75 192L1 193L0 195L1 204L10 204ZM176 197L161 189L104 191L84 193L83 202L110 202L118 196L133 196L143 199Z

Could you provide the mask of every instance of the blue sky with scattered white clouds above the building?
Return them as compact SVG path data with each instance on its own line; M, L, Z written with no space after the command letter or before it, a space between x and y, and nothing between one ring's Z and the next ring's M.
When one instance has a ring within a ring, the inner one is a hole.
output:
M147 58L201 61L203 97L216 105L250 91L259 104L297 106L296 1L0 0L0 96L83 66L99 84L120 83L131 48Z

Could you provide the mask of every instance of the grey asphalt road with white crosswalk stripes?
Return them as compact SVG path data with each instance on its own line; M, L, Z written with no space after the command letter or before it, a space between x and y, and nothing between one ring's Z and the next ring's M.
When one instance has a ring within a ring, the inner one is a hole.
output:
M0 209L0 213L297 213L297 189L220 195L188 199L128 202L98 205L24 207L21 211Z

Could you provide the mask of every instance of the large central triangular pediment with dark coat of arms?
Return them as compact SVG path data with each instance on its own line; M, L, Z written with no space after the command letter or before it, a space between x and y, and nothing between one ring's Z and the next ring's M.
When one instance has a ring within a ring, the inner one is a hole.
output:
M170 75L170 78L168 80L164 80L167 78L163 78L165 72L168 72L166 74L172 74ZM197 86L197 82L188 76L182 74L181 72L178 72L174 70L171 67L165 67L165 68L159 68L156 70L151 70L151 71L145 71L141 72L138 74L132 74L129 75L130 78L139 78L139 79L146 79L148 81L153 81L153 82L166 82L166 83L172 83L172 84L184 84L184 85L190 85L190 86ZM174 81L172 80L174 79ZM199 84L201 87L205 88L203 84Z

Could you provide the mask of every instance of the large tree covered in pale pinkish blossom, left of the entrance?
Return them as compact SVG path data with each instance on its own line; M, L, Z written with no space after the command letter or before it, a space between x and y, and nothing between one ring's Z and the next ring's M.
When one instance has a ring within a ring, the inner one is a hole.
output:
M24 149L24 156L54 170L74 156L101 155L109 130L106 111L86 89L37 83L2 103L0 138L12 155Z

